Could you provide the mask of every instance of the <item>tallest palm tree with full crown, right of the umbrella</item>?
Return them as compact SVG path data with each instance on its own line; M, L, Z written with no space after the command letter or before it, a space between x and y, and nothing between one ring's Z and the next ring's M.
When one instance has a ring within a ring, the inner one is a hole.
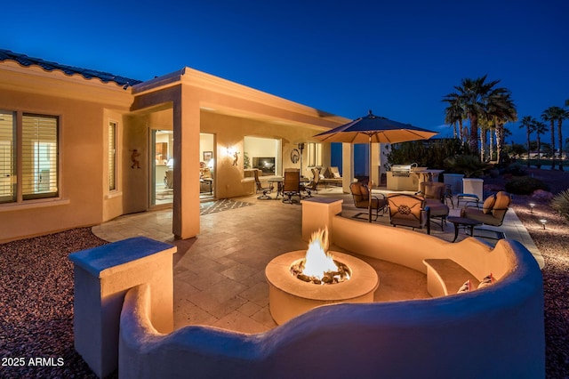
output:
M456 92L445 96L447 100L460 99L462 115L469 119L469 145L473 154L478 152L478 118L487 113L490 97L509 93L504 88L494 88L500 80L486 83L486 77L487 75L476 79L462 79L461 85L454 86Z

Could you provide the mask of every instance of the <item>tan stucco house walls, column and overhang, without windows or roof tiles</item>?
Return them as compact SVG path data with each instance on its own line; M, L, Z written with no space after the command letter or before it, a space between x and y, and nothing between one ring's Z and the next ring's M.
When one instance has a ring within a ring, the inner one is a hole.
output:
M281 140L276 155L283 168L298 167L290 160L297 143L348 121L188 68L122 87L14 60L0 61L0 109L60 117L59 197L0 204L0 242L147 211L151 129L173 131L172 232L194 237L199 233L200 133L216 136L216 198L233 198L253 190L243 180L244 136ZM114 190L108 189L109 122L116 123L118 138ZM227 156L228 147L240 151L238 165ZM140 169L132 168L134 149ZM327 165L328 144L323 151ZM311 175L306 164L303 169Z

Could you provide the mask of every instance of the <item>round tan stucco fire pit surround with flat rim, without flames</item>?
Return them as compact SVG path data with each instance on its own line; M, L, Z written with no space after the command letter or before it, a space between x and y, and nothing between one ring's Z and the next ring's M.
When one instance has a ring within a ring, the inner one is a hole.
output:
M307 283L291 274L293 262L304 258L306 251L277 256L265 269L268 283L268 307L276 324L281 325L320 305L336 302L373 302L379 286L377 272L366 262L348 254L331 252L334 260L348 265L351 278L332 285Z

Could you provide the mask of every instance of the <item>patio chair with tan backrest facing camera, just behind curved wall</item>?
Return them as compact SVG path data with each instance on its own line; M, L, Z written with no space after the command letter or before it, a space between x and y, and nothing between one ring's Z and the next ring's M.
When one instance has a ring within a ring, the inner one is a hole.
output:
M425 199L417 195L403 193L389 194L389 222L393 226L427 229L430 234L430 211Z

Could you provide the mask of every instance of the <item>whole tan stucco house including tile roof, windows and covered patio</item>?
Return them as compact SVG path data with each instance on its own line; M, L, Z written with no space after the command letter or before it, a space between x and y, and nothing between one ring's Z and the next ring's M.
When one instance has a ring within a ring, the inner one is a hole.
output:
M251 194L246 167L299 167L299 143L309 176L330 164L311 137L348 121L195 69L141 82L0 50L0 242L164 206L196 236L200 193Z

